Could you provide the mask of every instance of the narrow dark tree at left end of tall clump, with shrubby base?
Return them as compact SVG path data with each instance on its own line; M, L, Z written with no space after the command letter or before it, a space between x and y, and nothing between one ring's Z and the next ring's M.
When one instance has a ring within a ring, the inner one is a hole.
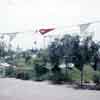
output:
M62 81L62 73L61 68L59 68L59 64L62 60L63 51L62 51L62 44L61 42L56 39L49 47L49 60L52 65L51 72L51 80L53 80L56 83L59 83Z

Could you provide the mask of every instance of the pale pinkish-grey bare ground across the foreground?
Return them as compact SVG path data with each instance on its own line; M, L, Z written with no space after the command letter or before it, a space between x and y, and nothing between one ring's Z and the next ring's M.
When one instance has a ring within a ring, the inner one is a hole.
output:
M0 100L100 100L100 91L75 90L68 85L0 78Z

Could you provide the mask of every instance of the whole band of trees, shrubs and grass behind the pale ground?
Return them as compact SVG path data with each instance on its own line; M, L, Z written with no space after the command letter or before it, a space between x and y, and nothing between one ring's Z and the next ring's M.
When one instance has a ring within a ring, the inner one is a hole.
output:
M18 72L13 68L7 68L6 76L9 77L25 80L49 79L58 83L81 80L82 83L83 80L92 80L93 69L98 70L100 67L100 44L93 41L92 37L81 40L79 36L65 35L62 39L52 42L48 48L36 52L32 50L7 52L5 48L6 45L0 43L0 57L21 70ZM59 67L62 62L66 64L66 68ZM74 65L72 69L67 69L69 63ZM27 68L31 71L26 71ZM99 74L96 73L93 80L99 83Z

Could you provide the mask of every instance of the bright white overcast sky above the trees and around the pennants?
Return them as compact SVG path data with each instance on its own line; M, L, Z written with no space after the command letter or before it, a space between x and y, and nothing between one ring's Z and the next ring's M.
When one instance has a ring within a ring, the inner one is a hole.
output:
M0 0L0 32L32 30L16 36L12 45L16 48L43 47L43 36L34 31L39 28L56 27L50 34L78 31L67 26L100 20L99 0ZM93 24L99 40L100 24Z

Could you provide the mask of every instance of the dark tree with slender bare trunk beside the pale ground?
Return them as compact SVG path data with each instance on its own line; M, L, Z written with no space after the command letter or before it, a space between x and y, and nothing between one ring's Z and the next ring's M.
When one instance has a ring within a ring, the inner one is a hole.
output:
M83 84L84 65L88 64L91 59L91 56L89 55L90 41L91 37L87 37L82 41L78 40L78 42L74 42L73 45L73 63L75 64L75 67L78 68L81 72L81 86Z

